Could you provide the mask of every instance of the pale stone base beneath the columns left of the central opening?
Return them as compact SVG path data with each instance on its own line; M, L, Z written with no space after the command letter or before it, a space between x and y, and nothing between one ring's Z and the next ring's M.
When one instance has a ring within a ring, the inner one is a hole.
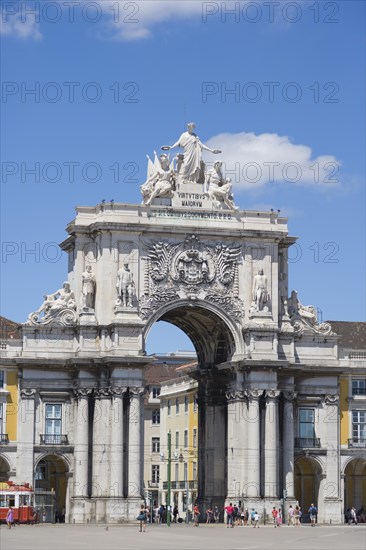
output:
M67 523L131 523L136 522L140 498L78 498L70 501Z

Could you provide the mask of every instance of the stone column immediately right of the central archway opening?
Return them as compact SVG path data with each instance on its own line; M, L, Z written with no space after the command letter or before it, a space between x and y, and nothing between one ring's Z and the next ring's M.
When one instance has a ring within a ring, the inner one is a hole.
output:
M245 463L245 423L243 406L245 392L226 392L227 404L227 500L239 500L243 495L243 471Z

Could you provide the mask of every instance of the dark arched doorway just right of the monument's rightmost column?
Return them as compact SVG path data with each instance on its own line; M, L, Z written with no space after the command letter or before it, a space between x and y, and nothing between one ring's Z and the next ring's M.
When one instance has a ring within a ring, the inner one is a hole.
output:
M303 511L304 522L309 521L307 511L311 503L318 507L321 515L320 485L323 478L324 465L318 457L304 455L295 461L295 498Z

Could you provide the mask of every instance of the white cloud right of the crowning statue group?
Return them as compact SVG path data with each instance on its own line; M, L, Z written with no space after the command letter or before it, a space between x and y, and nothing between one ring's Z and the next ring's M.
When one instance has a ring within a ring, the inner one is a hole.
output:
M224 173L231 177L236 190L268 183L334 187L339 183L341 162L333 155L312 156L307 145L296 145L288 136L278 134L218 134L206 145L221 149ZM205 155L212 165L218 157Z

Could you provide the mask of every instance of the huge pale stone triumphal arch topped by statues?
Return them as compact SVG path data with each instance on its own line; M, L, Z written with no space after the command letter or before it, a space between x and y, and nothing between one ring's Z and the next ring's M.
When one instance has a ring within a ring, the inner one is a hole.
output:
M67 226L67 281L23 330L19 475L31 479L44 456L36 411L63 403L66 521L135 519L145 341L164 320L197 352L202 509L294 504L296 411L310 406L327 448L315 449L309 432L301 456L317 464L319 513L339 521L337 336L288 289L296 238L278 212L238 209L220 151L193 124L162 149L148 159L141 204L79 206ZM211 168L205 149L216 155Z

